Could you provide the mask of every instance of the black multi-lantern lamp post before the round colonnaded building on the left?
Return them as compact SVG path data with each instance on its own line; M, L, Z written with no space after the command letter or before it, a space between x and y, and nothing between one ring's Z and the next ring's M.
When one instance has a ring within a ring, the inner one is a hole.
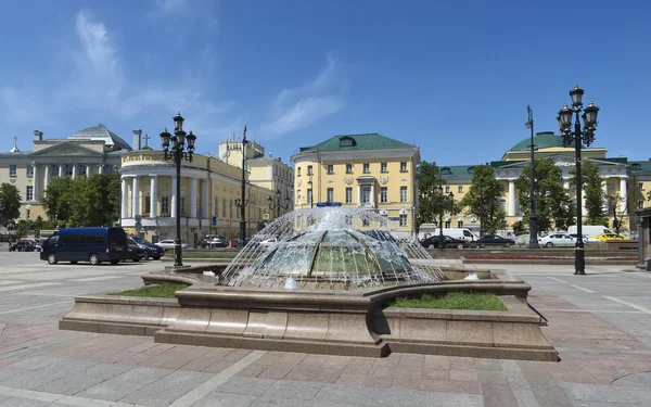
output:
M181 161L187 160L192 162L194 153L194 141L196 136L190 131L186 135L183 131L183 117L180 113L174 116L174 136L167 131L167 128L161 133L161 142L163 143L163 153L165 160L174 160L176 165L176 239L174 241L174 267L183 267L182 251L181 251ZM171 145L170 145L171 141ZM188 145L186 145L188 143ZM187 151L186 151L187 150Z

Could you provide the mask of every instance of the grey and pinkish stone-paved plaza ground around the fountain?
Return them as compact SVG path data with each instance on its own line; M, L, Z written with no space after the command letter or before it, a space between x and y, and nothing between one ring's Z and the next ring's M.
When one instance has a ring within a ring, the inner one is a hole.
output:
M533 285L560 363L321 356L58 330L74 295L138 287L161 266L49 266L0 253L0 406L651 406L648 272L495 266Z

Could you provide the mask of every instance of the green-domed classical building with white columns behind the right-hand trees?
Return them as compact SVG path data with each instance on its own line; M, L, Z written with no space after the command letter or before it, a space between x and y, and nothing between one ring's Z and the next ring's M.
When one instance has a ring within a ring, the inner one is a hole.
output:
M523 211L518 203L519 191L515 188L514 181L529 164L529 144L531 139L526 138L507 151L500 161L489 163L495 168L496 178L501 180L505 186L505 195L501 198L501 204L507 213L507 222L509 225L522 220ZM561 136L557 136L553 132L538 132L534 137L534 145L536 147L536 158L551 157L556 165L563 170L565 189L573 191L570 179L573 176L571 171L573 173L575 168L574 144L565 148L563 147ZM628 191L631 191L635 187L642 192L644 199L634 202L634 207L641 209L651 204L646 200L651 189L651 161L607 157L607 151L603 148L584 148L582 150L582 158L584 161L591 161L599 166L599 173L603 179L603 192L605 194L620 196L622 202L627 202L629 199ZM441 166L442 176L447 181L445 192L452 192L456 200L462 199L471 185L473 168L476 165ZM571 196L574 200L576 199L575 195L572 195L572 192ZM584 209L583 213L585 215L586 211ZM624 217L623 225L627 226L628 214L623 207L618 207L617 213L618 217ZM468 227L477 231L480 229L477 217L465 215L465 213L454 216L448 215L444 218L444 221L447 227Z

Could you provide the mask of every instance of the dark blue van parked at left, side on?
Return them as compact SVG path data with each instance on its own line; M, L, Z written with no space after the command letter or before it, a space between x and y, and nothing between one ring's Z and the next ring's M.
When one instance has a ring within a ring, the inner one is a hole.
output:
M69 228L58 230L42 245L41 260L102 262L118 264L127 258L129 243L123 228Z

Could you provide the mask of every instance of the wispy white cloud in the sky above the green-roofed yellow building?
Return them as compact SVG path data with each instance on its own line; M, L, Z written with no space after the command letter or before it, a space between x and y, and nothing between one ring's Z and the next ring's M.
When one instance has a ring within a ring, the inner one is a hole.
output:
M344 106L339 74L336 61L329 58L328 65L312 80L296 89L282 89L269 119L261 125L263 138L279 138L339 112Z

